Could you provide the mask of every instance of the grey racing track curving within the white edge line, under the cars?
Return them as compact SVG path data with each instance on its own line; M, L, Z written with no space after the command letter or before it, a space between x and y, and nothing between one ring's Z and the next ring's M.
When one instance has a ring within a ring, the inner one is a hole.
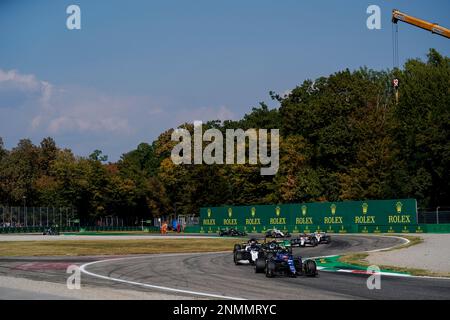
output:
M304 257L388 248L391 237L335 236L330 245L296 251ZM450 281L382 277L381 290L368 290L367 276L320 272L318 278L267 279L231 253L160 255L118 259L86 267L91 273L156 286L244 299L449 299Z

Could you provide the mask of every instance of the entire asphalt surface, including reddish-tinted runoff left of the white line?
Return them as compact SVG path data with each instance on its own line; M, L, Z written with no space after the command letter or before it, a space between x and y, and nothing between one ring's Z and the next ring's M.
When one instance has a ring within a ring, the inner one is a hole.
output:
M317 257L388 248L400 243L401 239L392 237L334 236L331 244L294 249L294 253ZM65 283L67 265L90 262L94 263L85 266L87 272L121 282L83 274L83 286L170 293L181 299L208 298L207 295L250 300L450 299L450 280L446 279L381 276L381 290L369 290L366 285L368 276L358 274L320 272L317 278L267 279L264 274L255 274L249 265L235 266L231 252L133 257L0 258L0 275ZM162 290L155 286L179 291ZM26 293L11 294L8 291L8 295L5 290L0 284L0 298L8 299L11 295L13 298L16 295L28 298Z

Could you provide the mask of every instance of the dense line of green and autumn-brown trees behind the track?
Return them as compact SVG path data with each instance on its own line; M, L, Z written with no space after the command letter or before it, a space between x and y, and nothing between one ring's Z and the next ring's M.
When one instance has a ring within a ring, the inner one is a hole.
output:
M400 81L396 102L392 79ZM79 157L52 138L12 150L0 138L0 204L73 206L84 221L105 215L198 214L203 206L416 198L450 206L450 59L431 49L403 69L343 70L270 92L241 120L204 130L280 129L280 168L174 165L173 129L115 163L100 150ZM193 130L191 123L181 125Z

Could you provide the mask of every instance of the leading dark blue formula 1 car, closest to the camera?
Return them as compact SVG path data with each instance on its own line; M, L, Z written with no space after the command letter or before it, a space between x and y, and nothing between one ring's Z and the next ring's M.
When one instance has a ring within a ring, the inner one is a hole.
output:
M315 277L318 274L316 262L312 259L303 261L301 257L294 257L290 244L287 243L278 244L274 250L267 250L264 257L261 255L255 261L255 272L265 272L268 278L275 275Z

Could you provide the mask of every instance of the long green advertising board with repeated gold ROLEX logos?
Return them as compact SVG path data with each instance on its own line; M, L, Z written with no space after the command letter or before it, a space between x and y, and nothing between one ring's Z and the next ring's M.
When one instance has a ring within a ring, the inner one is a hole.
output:
M201 232L237 228L264 232L270 228L290 232L331 233L408 230L417 225L415 199L316 202L300 204L228 206L200 209ZM377 229L376 227L379 226ZM380 228L382 226L382 228ZM392 227L392 228L389 228ZM405 228L406 227L406 228ZM386 229L388 228L388 229Z

